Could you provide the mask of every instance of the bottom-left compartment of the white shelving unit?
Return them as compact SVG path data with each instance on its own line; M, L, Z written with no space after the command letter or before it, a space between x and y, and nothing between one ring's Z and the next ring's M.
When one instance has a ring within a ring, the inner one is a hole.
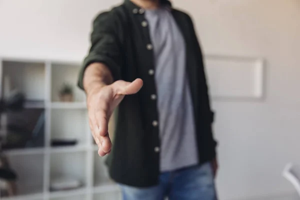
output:
M43 192L43 154L8 155L7 158L11 169L17 174L15 197Z

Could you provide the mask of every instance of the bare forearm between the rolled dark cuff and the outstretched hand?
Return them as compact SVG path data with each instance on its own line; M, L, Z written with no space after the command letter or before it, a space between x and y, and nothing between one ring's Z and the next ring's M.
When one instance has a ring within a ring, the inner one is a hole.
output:
M111 84L113 78L108 67L100 62L89 64L83 75L83 87L86 94L98 90L101 87Z

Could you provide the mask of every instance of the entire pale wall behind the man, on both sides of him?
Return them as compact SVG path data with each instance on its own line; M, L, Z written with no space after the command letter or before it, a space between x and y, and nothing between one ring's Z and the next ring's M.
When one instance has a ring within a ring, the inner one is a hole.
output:
M91 19L115 2L0 0L0 56L80 60ZM193 16L206 54L266 61L263 100L213 101L220 199L294 199L281 170L300 163L300 1L173 2Z

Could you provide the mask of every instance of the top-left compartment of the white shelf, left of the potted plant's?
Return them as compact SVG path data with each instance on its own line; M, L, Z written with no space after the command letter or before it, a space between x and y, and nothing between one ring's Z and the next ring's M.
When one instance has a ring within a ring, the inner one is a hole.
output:
M45 65L40 62L3 61L2 95L13 89L25 94L28 100L45 99Z

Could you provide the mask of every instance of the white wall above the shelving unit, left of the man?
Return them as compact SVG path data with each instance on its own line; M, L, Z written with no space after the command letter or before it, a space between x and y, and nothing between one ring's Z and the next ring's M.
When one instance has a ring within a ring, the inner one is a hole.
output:
M79 61L91 19L121 0L0 0L0 55Z

